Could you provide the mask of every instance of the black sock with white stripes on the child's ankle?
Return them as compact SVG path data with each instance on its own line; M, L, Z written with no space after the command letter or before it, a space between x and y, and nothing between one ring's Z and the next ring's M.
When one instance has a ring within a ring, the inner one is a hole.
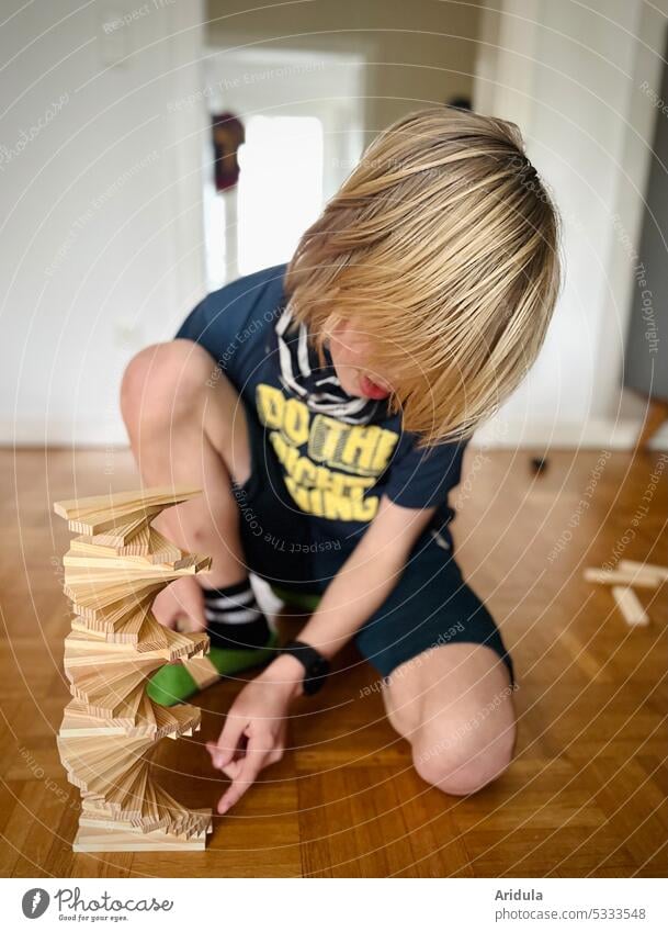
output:
M250 580L225 588L204 589L206 631L212 647L263 648L271 633Z

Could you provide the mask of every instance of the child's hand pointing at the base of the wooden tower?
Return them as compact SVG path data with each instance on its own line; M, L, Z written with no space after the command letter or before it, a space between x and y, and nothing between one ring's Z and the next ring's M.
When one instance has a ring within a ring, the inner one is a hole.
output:
M231 779L218 801L222 816L244 796L260 771L282 759L287 710L301 693L303 674L294 658L275 660L239 693L217 742L207 742L214 767Z

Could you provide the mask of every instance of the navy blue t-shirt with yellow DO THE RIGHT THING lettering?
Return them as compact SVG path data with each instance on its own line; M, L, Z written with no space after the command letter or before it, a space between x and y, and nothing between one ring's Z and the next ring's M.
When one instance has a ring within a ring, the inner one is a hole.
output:
M437 505L439 524L449 520L465 443L417 449L417 435L401 429L386 402L347 395L331 357L321 367L305 328L283 326L284 274L285 266L275 266L213 292L177 337L204 347L257 412L291 498L320 534L356 537L382 495L405 508Z

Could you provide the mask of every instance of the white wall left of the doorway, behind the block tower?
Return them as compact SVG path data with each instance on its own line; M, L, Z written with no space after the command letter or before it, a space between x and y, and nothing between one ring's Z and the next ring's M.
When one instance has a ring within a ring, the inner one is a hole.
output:
M202 111L169 109L197 86L201 4L78 5L3 4L4 442L123 441L126 360L204 288Z

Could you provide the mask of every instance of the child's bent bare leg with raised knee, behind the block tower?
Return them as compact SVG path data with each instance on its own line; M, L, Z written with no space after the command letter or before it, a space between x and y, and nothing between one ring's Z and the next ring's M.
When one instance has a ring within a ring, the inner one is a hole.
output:
M190 340L148 347L125 372L122 411L146 485L185 484L202 496L170 508L156 521L184 550L212 557L207 587L225 587L248 575L239 540L238 507L230 480L250 473L248 428L238 394L211 356ZM162 603L162 604L161 604ZM156 614L204 622L200 586L182 580L160 594Z

